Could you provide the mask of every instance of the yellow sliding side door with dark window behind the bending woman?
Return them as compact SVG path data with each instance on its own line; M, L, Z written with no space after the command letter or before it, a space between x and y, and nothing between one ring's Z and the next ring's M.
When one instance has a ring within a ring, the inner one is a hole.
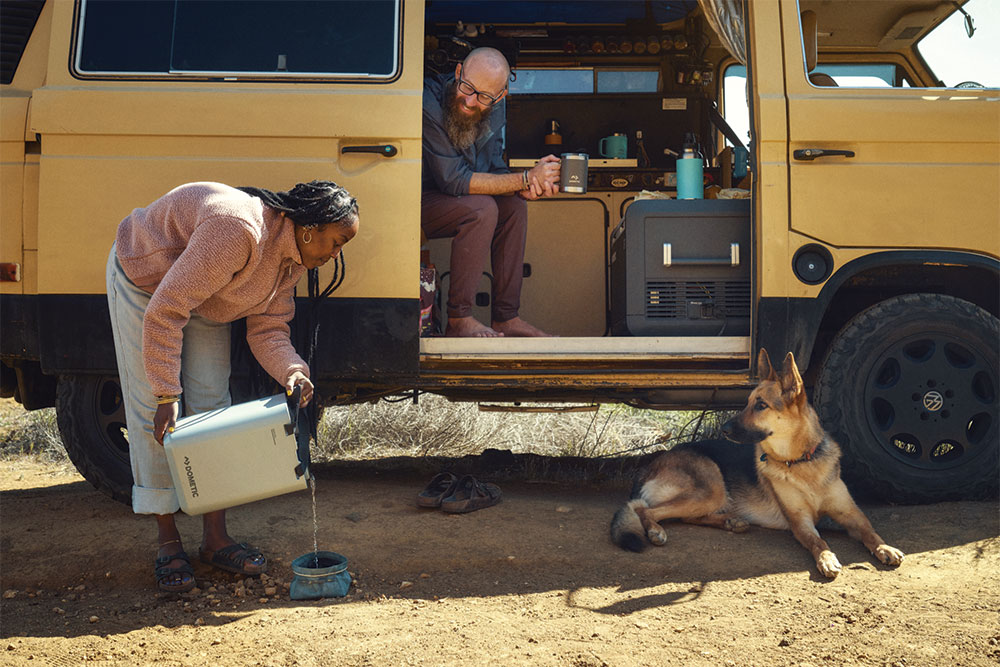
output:
M102 267L132 209L192 181L324 179L358 199L361 225L333 298L313 311L299 286L296 321L321 322L314 374L415 374L423 44L402 0L54 5L30 119L43 368L114 368ZM83 331L62 335L67 318Z

